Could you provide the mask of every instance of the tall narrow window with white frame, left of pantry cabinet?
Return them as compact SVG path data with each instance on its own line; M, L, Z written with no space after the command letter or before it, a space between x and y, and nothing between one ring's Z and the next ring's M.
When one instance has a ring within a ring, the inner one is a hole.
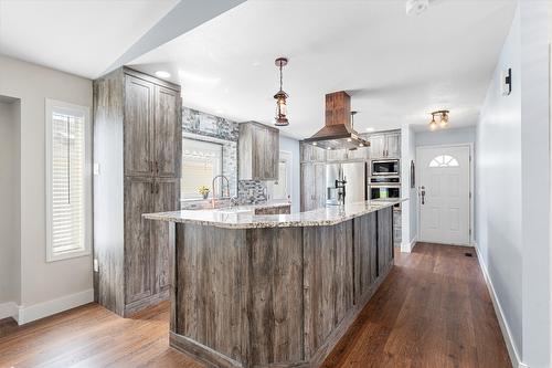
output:
M46 261L91 252L88 107L46 99Z

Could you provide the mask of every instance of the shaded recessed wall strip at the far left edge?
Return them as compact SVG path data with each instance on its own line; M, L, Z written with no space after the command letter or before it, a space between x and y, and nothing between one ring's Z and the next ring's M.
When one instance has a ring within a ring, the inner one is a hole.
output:
M0 304L21 299L19 129L20 102L0 99Z

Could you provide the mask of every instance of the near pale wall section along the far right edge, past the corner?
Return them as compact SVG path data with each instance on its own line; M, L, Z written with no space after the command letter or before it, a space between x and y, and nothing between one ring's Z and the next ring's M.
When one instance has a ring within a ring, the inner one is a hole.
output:
M548 1L519 6L523 361L550 367L550 123Z

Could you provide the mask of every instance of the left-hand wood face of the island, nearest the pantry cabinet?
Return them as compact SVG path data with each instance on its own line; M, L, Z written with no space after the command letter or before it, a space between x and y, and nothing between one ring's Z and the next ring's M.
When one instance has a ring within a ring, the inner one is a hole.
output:
M246 231L178 223L176 263L177 347L219 366L246 361Z

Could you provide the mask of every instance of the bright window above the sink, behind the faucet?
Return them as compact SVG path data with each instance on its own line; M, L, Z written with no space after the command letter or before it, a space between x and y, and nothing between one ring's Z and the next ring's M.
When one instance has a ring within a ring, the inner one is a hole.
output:
M182 139L181 199L201 199L202 196L198 192L198 188L205 186L212 190L213 178L221 174L222 145ZM212 194L212 192L209 193L210 197Z

